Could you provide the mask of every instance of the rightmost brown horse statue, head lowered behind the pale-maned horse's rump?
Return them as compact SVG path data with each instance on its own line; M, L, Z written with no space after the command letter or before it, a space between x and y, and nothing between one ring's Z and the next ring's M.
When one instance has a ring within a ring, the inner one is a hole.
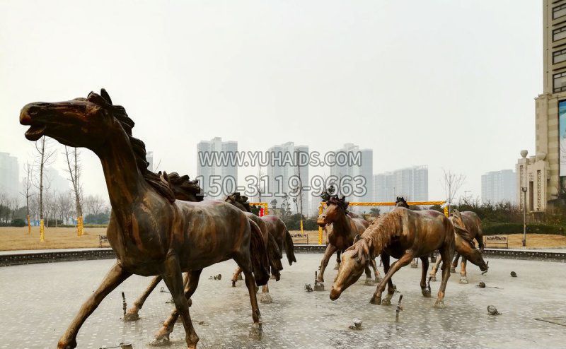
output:
M473 239L480 238L478 242L482 241L480 246L483 247L483 239L481 238L481 220L474 212L464 211L459 212L458 210L452 211L450 216L450 221L454 225L454 243L456 248L456 259L454 261L457 263L458 256L462 256L462 264L460 271L460 283L468 283L468 276L466 275L466 260L472 262L476 266L480 267L481 271L487 271L487 264L483 260L481 250L475 248ZM440 264L440 259L432 267L430 271L430 276L432 280L436 280L437 270Z

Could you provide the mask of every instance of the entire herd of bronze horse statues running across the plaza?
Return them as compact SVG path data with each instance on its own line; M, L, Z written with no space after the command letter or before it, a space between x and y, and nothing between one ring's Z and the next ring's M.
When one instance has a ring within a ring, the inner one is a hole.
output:
M225 201L202 201L197 181L176 172L148 170L144 142L132 136L134 122L124 107L112 104L104 89L100 94L91 92L86 98L67 102L25 105L20 123L30 126L25 132L30 141L49 136L66 146L92 150L100 158L112 207L107 236L117 260L82 304L57 348L76 348L76 336L84 321L112 290L133 274L154 278L127 310L125 320L139 319L146 298L163 280L175 309L157 331L155 342L167 343L180 317L187 347L196 348L199 337L190 317L191 296L197 290L203 268L229 259L237 264L232 286L243 273L253 326L261 329L258 288L262 286L261 302L271 302L267 283L270 278L277 281L281 277L283 252L289 265L296 262L293 240L280 218L251 213L246 196L238 193L229 195ZM473 212L453 211L447 218L438 211L411 208L405 199L398 198L391 212L379 215L370 223L349 212L343 196L324 193L323 201L325 208L317 223L328 234L328 246L316 281L324 282L325 268L336 253L337 276L330 300L337 300L365 273L366 284L377 283L369 302L391 304L395 292L393 274L413 259L420 259L420 288L424 297L431 297L429 281L435 280L442 262L435 306L444 307L450 267L455 268L460 257L461 283L467 283L466 261L487 271L482 257L481 221ZM440 259L427 283L429 256L435 252ZM381 257L384 276L379 274L377 256ZM393 264L390 264L391 256L397 259ZM382 300L386 286L387 295Z

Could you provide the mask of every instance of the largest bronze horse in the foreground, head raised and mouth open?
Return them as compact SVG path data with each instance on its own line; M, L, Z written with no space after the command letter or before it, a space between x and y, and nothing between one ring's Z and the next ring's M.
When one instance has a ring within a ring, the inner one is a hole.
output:
M147 169L144 143L132 136L134 122L123 107L112 105L105 90L67 102L30 103L21 110L20 123L30 126L25 132L30 141L50 136L92 150L102 163L112 206L106 235L117 261L59 339L59 349L76 348L84 321L132 274L165 280L187 347L196 348L199 338L187 300L202 268L227 259L243 268L253 321L260 326L255 285L265 285L270 275L258 226L229 203L175 200L168 183ZM184 271L189 273L186 289Z

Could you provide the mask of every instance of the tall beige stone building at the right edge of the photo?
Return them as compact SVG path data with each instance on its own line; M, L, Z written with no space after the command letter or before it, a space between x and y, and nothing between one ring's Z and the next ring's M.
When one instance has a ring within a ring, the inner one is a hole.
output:
M536 212L566 187L566 0L543 0L543 93L535 98L535 124L536 151L515 168L517 202L522 208L526 199Z

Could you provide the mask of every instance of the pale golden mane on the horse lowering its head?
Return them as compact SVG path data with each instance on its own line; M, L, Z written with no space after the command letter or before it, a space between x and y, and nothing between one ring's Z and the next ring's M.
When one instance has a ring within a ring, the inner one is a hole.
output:
M354 242L348 249L354 251L353 256L358 261L371 259L371 257L380 254L384 248L388 247L393 237L398 236L403 228L403 213L399 210L393 210L390 213L380 215L374 223L372 223L362 237Z

